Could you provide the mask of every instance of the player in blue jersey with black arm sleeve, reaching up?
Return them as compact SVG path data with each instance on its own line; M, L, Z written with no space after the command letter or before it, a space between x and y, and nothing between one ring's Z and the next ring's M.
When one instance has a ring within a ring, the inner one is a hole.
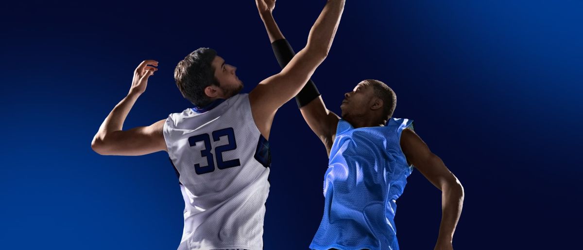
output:
M273 19L275 0L256 0L278 62L294 52ZM399 249L396 199L417 168L442 191L442 219L435 249L453 249L463 188L437 155L413 131L413 121L391 118L396 95L384 83L361 81L345 94L342 119L326 109L310 80L296 96L308 126L329 156L324 181L324 217L311 249Z

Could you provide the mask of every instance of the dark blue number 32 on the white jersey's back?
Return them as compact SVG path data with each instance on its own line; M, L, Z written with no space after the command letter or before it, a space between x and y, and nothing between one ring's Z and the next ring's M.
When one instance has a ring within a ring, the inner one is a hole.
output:
M215 148L215 155L216 155L216 162L217 168L225 169L225 168L233 168L233 166L241 166L241 162L239 159L231 159L229 161L223 161L223 152L235 150L237 148L237 141L235 141L235 131L232 127L228 127L227 129L216 130L213 131L213 141L219 141L220 137L226 136L228 144L220 145ZM206 157L206 162L208 162L206 166L201 166L201 164L194 164L194 171L198 175L202 175L203 173L210 173L215 171L215 161L213 158L213 153L211 152L212 146L210 145L210 136L209 134L199 134L198 136L191 136L188 138L188 143L190 146L196 145L199 141L203 141L205 143L205 149L201 150L201 157Z

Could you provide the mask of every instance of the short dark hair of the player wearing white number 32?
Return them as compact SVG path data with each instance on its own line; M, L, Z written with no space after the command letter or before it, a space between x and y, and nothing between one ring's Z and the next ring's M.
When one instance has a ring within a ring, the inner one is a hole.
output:
M212 62L217 53L212 48L198 48L178 62L174 69L174 80L182 96L192 104L202 107L210 103L205 88L210 85L219 86L215 78L215 68Z

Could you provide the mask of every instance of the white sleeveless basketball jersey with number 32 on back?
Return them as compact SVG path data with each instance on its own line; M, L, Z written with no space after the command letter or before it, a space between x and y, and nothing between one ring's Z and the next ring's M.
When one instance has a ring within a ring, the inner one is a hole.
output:
M248 95L170 114L164 139L185 202L178 249L263 249L271 159Z

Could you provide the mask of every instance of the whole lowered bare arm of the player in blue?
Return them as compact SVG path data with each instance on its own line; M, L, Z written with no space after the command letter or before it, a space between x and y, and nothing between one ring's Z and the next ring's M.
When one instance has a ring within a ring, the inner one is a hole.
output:
M462 184L412 130L403 130L401 148L407 161L441 190L442 215L435 249L453 249L452 239L463 207Z

